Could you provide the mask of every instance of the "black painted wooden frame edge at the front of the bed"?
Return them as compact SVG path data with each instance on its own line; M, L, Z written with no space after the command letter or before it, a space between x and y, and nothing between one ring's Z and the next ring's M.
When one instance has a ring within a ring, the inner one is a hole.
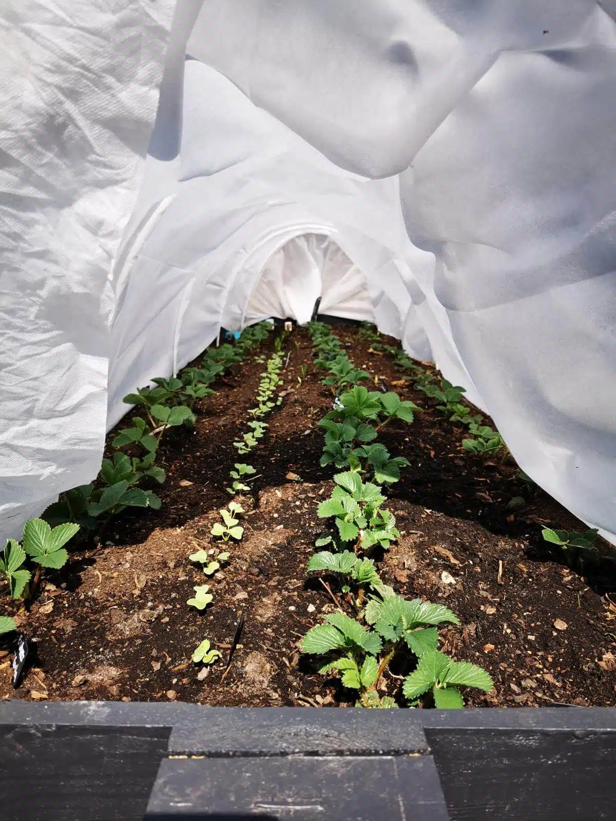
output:
M2 821L597 821L614 808L616 709L0 704Z

